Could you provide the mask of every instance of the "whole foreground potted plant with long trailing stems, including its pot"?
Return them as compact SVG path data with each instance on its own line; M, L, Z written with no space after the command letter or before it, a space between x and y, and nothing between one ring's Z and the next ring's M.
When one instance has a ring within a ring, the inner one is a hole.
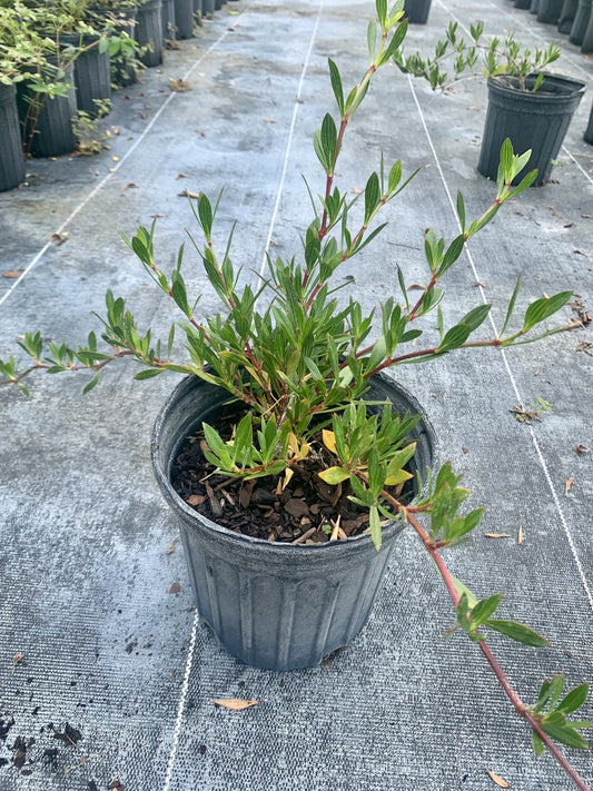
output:
M585 702L587 685L562 696L559 674L544 681L533 706L512 690L487 644L488 631L532 646L546 641L525 625L495 617L501 594L478 601L452 576L441 550L465 541L483 508L462 513L468 491L459 486L461 476L448 462L431 469L431 425L415 397L385 376L401 365L543 338L559 328L540 325L572 293L543 296L517 318L520 284L511 285L497 337L480 336L490 305L453 324L445 318L446 273L465 244L536 177L532 171L512 186L530 154L515 155L505 141L492 205L470 220L458 195L461 233L447 244L426 231L427 279L416 299L408 297L403 270L399 299L389 297L377 317L353 297L338 297L339 267L385 230L377 217L413 177L404 177L399 160L386 167L377 157L360 195L353 198L335 182L348 125L407 29L402 0L392 9L377 0L376 7L377 19L368 28L369 67L360 81L345 91L329 60L337 115L326 113L315 134L323 188L318 197L309 192L312 218L300 255L269 258L259 285L241 283L230 239L217 253L213 228L220 197L210 201L200 192L190 207L201 240L191 243L220 299L219 314L201 317L199 296L188 294L184 246L167 274L157 264L155 224L141 227L123 238L181 315L167 342L155 342L150 329L141 332L125 300L108 291L102 347L95 332L83 346L52 342L48 348L39 332L26 333L20 347L30 363L21 368L14 356L0 360L0 384L27 393L23 379L33 370L83 369L91 374L89 392L107 365L127 358L140 365L137 379L165 372L186 375L155 426L155 472L179 517L198 611L246 662L278 670L310 666L347 644L364 625L397 534L411 526L451 594L455 629L486 656L532 729L535 750L548 749L574 778L554 739L586 748L579 729L593 723L569 715ZM429 315L436 318L433 342L423 337ZM184 336L178 353L176 328Z

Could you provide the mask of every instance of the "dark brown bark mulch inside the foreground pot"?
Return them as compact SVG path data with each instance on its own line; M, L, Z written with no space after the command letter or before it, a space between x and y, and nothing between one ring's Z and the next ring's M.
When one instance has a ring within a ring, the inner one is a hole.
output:
M231 436L240 415L220 418L215 427L223 438ZM310 458L293 468L294 475L283 488L284 474L255 481L229 478L215 473L202 453L204 432L197 432L182 446L174 463L171 483L179 496L199 513L235 533L267 541L317 544L346 538L368 528L367 512L348 500L348 482L329 486L317 472L335 464L319 442ZM327 458L324 459L324 457ZM394 491L409 502L413 487ZM337 528L336 528L337 525Z

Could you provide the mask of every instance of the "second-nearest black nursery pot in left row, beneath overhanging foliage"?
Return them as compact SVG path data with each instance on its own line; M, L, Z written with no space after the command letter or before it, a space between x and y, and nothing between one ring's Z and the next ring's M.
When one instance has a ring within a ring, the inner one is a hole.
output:
M51 58L48 58L51 60ZM33 157L59 157L70 154L76 148L76 137L72 130L72 116L77 112L73 63L66 69L65 82L72 86L66 96L53 99L38 96L41 110L37 119L28 112L30 102L36 101L34 91L28 82L19 83L17 88L17 107L22 127L22 139L26 149Z

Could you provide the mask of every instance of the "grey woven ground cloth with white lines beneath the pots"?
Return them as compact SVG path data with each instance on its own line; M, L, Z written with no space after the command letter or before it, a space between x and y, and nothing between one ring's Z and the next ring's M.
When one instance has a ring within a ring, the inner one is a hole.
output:
M238 219L235 260L246 277L255 279L268 240L273 251L297 251L308 224L302 175L322 189L310 140L330 107L326 58L356 79L372 13L359 0L224 6L141 85L115 95L109 150L31 161L27 185L0 196L0 269L23 269L18 280L0 277L0 355L26 329L83 342L98 329L90 314L107 287L128 298L141 326L166 332L169 306L117 229L130 235L159 215L160 263L172 265L191 226L185 188L216 195L225 186L218 234ZM452 18L483 18L488 32L514 29L525 42L555 34L510 0L434 0L409 46L431 47ZM566 38L557 69L589 80L592 61ZM191 89L171 92L169 78ZM349 268L364 305L397 291L396 263L408 283L425 276L424 228L456 234L445 185L463 190L473 216L492 199L475 169L485 93L483 80L468 80L455 95L433 95L395 68L377 80L350 130L340 184L363 188L380 148L422 172ZM452 320L486 298L500 326L520 273L522 304L573 288L591 312L590 109L587 92L553 182L506 207L451 271ZM213 310L199 268L188 277ZM575 315L566 308L562 318ZM435 425L442 458L466 474L472 506L488 506L473 541L447 555L453 572L481 596L504 591L504 616L552 641L542 651L492 640L526 702L556 671L571 686L593 673L593 452L575 452L593 447L592 342L581 328L504 357L466 354L398 372ZM411 532L367 627L327 664L279 674L219 649L196 617L179 543L167 553L177 526L150 468L151 425L176 379L132 383L132 373L111 366L86 397L85 376L31 377L29 398L1 390L2 791L117 782L126 791L476 791L495 788L486 769L518 791L572 788L548 755L535 758L475 646L461 635L444 643L452 610ZM520 424L508 411L537 396L552 413ZM259 703L229 712L210 702L221 698ZM593 716L591 703L584 715ZM16 743L26 746L17 763ZM589 754L567 752L592 783Z

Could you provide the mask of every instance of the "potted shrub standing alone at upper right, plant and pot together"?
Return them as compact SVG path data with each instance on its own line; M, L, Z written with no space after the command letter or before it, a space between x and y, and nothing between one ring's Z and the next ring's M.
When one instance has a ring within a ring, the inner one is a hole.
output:
M522 48L514 34L484 39L483 22L471 26L468 41L459 37L457 22L451 22L434 56L398 51L394 60L402 71L428 80L433 90L446 88L465 72L484 76L488 107L478 171L496 179L501 145L508 138L515 150L532 151L516 178L521 179L527 168L537 168L534 184L543 185L586 87L581 80L544 71L560 55L555 43L545 49ZM453 73L444 66L447 59L452 60Z

